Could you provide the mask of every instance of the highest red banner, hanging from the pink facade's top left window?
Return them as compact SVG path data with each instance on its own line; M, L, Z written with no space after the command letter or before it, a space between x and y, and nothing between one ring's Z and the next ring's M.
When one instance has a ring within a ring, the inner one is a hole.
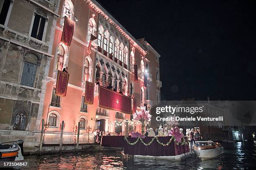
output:
M65 16L61 41L67 46L70 46L71 44L73 33L74 33L74 26L75 26L75 22L67 18L67 16Z

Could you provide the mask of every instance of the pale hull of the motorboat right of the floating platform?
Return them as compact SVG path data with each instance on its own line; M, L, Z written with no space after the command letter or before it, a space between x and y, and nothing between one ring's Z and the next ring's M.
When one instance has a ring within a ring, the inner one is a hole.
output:
M223 147L217 147L215 149L210 150L193 150L197 157L200 158L213 158L218 157L221 153L223 153Z

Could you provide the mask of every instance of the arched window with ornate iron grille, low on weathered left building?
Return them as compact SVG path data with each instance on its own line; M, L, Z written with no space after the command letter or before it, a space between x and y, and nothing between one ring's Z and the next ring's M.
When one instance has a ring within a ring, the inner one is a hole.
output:
M13 113L13 130L25 130L28 119L28 111L20 107Z

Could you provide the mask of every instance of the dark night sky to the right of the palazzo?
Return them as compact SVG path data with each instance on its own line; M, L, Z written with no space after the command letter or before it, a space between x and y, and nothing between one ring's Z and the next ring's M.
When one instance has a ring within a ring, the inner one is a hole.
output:
M161 55L161 100L256 99L253 1L98 2Z

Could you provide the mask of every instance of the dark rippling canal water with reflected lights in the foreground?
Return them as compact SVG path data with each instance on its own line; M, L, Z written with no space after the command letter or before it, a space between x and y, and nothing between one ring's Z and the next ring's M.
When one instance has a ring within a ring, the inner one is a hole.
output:
M26 156L30 170L253 170L256 168L256 144L238 142L222 144L224 154L212 160L191 157L184 162L133 160L123 152L79 153Z

